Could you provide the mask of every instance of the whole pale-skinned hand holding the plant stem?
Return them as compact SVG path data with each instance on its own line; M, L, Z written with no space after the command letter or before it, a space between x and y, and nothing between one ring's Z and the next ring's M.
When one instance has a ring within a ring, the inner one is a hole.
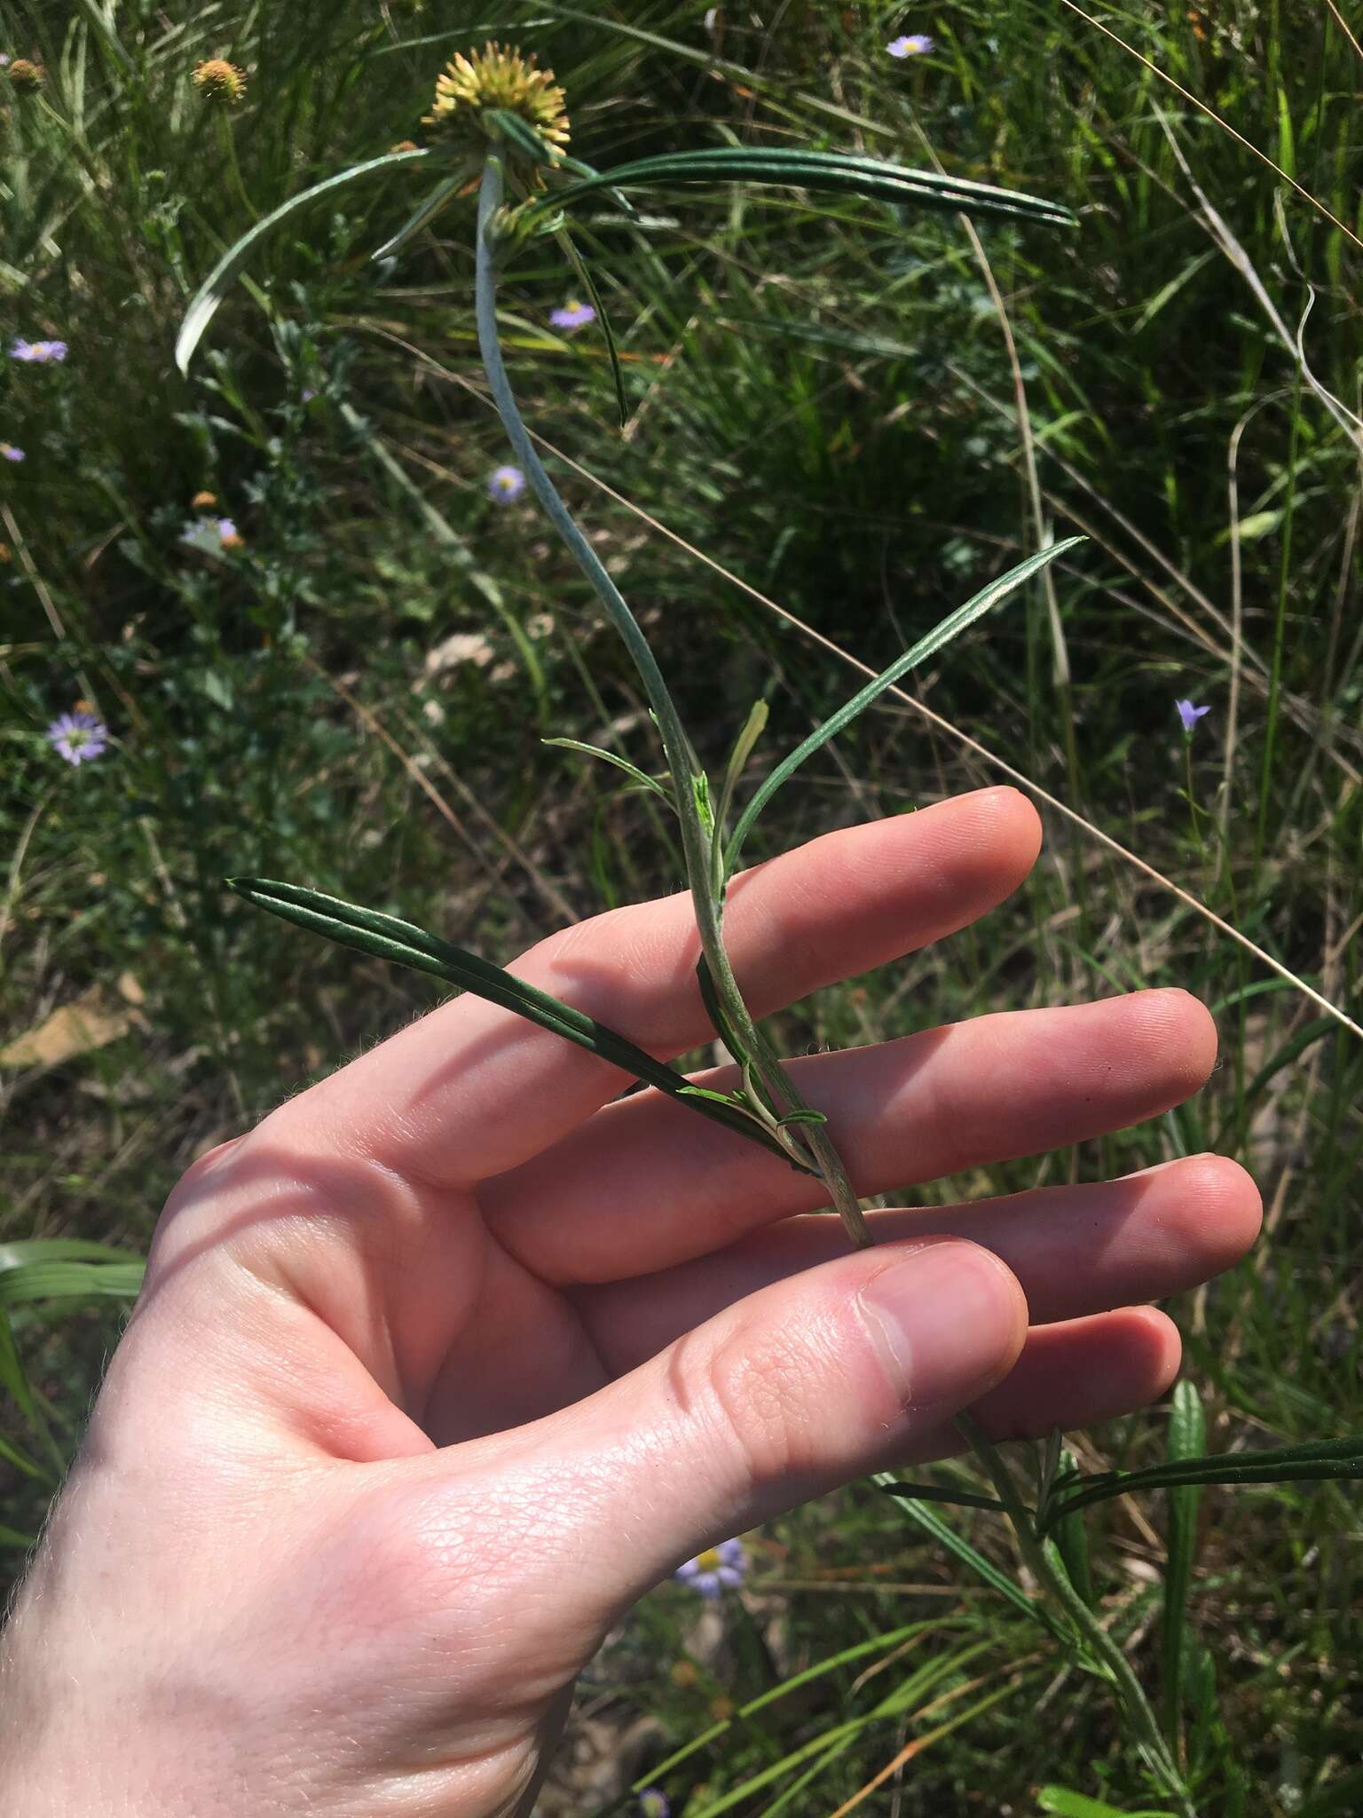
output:
M1038 845L990 789L749 873L751 1005L967 925ZM514 969L674 1056L694 960L674 896ZM1214 1054L1145 991L798 1073L869 1196L1154 1116ZM1259 1225L1194 1156L872 1213L852 1253L818 1182L625 1084L460 998L191 1167L0 1643L9 1818L523 1814L574 1674L682 1560L956 1449L961 1409L1016 1436L1158 1398L1145 1304Z

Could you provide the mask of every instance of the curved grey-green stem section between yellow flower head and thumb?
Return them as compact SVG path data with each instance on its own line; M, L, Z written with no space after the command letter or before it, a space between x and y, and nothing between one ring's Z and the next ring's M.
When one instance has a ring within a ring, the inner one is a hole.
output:
M672 696L667 691L658 662L649 649L649 642L640 631L634 614L625 604L623 594L611 580L600 556L572 522L563 500L558 496L554 482L545 473L543 462L540 460L529 431L522 422L520 409L516 407L516 398L511 391L511 380L507 378L507 367L502 358L502 345L496 333L496 262L492 227L496 213L502 207L502 160L496 151L489 151L478 191L474 296L478 313L478 345L487 369L492 402L496 404L502 425L511 438L511 447L531 484L531 489L534 491L534 496L540 500L554 529L567 544L578 567L592 584L611 618L611 624L625 640L625 649L629 651L643 682L649 705L652 707L658 731L662 734L663 753L667 756L669 769L672 771L678 820L682 824L682 851L687 865L687 880L691 884L691 898L696 909L696 929L700 933L701 953L705 956L705 965L709 967L716 996L723 1005L734 1034L745 1045L754 1071L767 1089L778 1116L783 1116L789 1111L807 1111L809 1105L785 1076L774 1049L752 1022L729 965L729 956L720 934L720 904L714 896L712 885L711 836L701 825L700 811L696 807L694 782L698 778L698 769L691 751L691 742L687 740L676 705L672 704ZM871 1233L856 1200L856 1193L852 1191L852 1184L847 1178L847 1169L823 1129L816 1124L801 1124L794 1127L791 1134L798 1147L807 1151L816 1171L823 1176L849 1238L860 1245L871 1244Z

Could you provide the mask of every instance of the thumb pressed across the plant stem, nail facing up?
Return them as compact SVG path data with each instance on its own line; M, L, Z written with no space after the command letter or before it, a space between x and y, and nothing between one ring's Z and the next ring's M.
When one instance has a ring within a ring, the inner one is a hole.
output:
M1007 1376L1025 1336L992 1251L885 1244L736 1302L522 1429L532 1474L552 1456L583 1616L611 1622L703 1547L894 1463Z

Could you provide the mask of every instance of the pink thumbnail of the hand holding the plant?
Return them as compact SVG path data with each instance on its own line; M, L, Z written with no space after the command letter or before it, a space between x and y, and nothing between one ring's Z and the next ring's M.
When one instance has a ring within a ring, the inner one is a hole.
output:
M960 1240L890 1264L860 1300L905 1407L965 1407L1009 1371L1027 1320L1003 1264Z

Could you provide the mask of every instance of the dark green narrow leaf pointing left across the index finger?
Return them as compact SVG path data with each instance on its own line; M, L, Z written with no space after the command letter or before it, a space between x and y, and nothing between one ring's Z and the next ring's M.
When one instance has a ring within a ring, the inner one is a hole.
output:
M611 1062L612 1067L622 1067L649 1085L656 1085L678 1104L723 1124L738 1136L761 1144L763 1149L780 1154L792 1167L798 1165L776 1138L752 1118L723 1104L685 1096L683 1087L691 1082L683 1074L654 1060L642 1047L634 1047L631 1040L607 1029L605 1024L598 1024L594 1016L572 1009L571 1004L562 1004L547 991L536 991L523 978L514 978L500 965L480 960L478 954L467 953L463 947L454 947L414 922L402 922L378 909L363 909L322 891L309 891L298 884L280 884L273 878L227 878L225 882L227 889L244 902L267 909L296 927L323 934L340 947L353 947L356 953L405 965L414 973L427 973L431 978L442 978L462 991L473 991L474 996L498 1004L536 1027L549 1029L551 1034L558 1034L576 1047L585 1047L587 1053Z

